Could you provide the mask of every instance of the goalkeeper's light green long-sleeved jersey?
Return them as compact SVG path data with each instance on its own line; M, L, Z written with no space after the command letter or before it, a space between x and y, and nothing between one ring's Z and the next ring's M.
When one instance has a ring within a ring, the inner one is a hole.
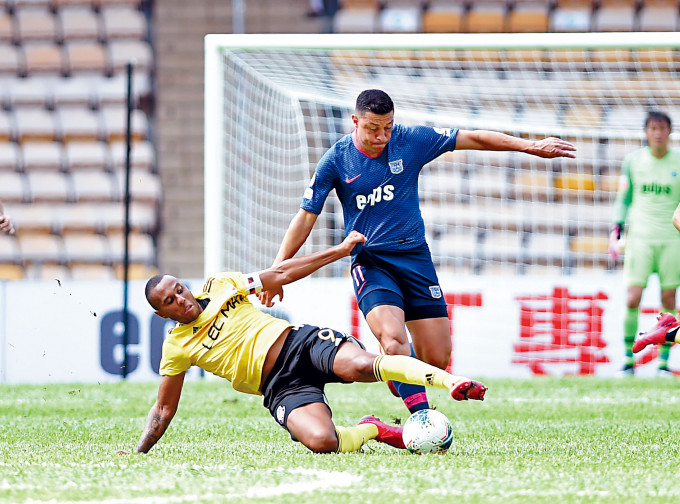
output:
M628 240L680 239L672 222L678 202L680 151L669 149L663 158L657 159L649 147L643 147L625 157L614 201L614 223L628 220Z

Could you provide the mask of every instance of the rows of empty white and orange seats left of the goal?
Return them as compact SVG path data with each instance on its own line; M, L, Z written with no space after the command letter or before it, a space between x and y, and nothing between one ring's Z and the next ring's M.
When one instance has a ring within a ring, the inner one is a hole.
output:
M140 5L0 5L0 200L18 229L0 235L0 279L122 277L126 70L136 62L137 107L154 65ZM135 109L132 124L133 251L147 272L156 264L161 188L146 113Z

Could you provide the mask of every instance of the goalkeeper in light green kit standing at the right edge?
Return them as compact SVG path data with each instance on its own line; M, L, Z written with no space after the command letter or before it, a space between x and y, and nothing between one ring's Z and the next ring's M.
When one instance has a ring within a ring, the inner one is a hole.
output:
M623 160L614 218L609 235L609 253L616 258L624 224L629 218L623 261L627 285L623 336L626 357L622 372L634 374L633 344L638 330L642 292L656 273L665 312L675 311L680 286L680 233L673 226L673 213L680 202L680 151L669 148L671 120L662 112L649 112L645 120L647 146ZM662 316L659 317L661 321ZM673 317L675 319L675 317ZM668 370L669 345L661 347L659 374Z

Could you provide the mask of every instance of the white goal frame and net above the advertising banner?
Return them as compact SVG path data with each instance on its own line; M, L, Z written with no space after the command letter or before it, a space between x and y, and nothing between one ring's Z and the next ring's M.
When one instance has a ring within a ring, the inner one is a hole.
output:
M606 251L623 156L651 108L676 116L679 33L211 34L205 38L205 271L274 259L360 91L395 120L574 142L575 160L461 151L420 177L440 274L614 271ZM675 136L673 136L675 138ZM334 193L302 252L339 242ZM341 275L347 262L319 274Z

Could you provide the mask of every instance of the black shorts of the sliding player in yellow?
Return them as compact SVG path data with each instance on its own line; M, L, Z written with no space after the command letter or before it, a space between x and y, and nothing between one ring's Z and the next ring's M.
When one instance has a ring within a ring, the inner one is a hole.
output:
M333 362L340 345L346 342L364 348L353 336L333 329L310 325L291 329L262 385L264 406L279 425L287 429L290 412L305 404L321 402L328 406L324 387L326 383L344 382L333 373Z

